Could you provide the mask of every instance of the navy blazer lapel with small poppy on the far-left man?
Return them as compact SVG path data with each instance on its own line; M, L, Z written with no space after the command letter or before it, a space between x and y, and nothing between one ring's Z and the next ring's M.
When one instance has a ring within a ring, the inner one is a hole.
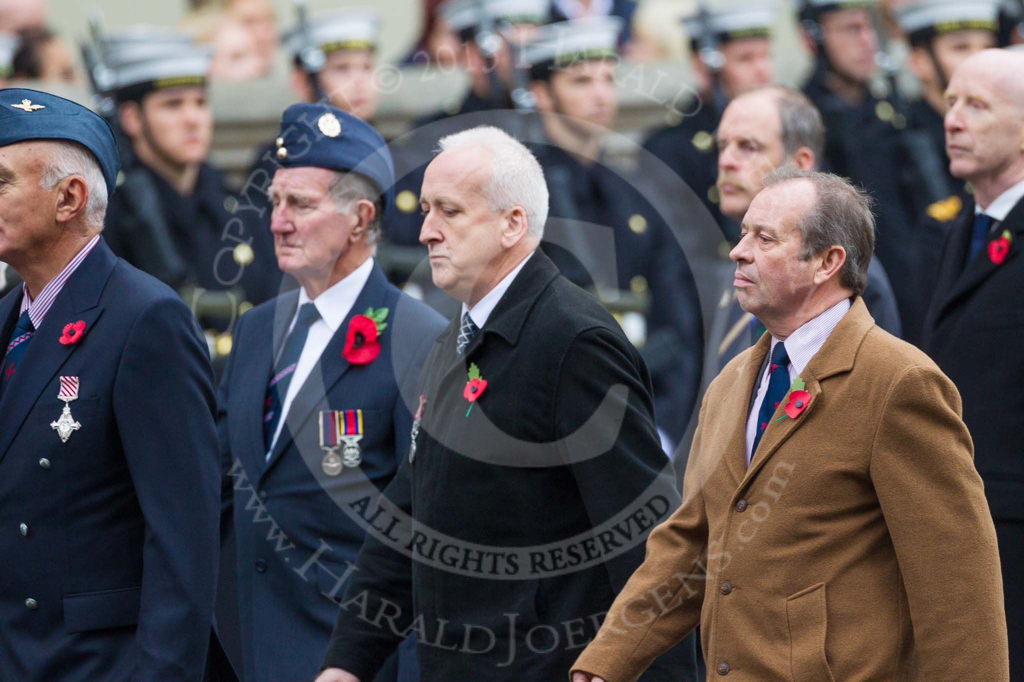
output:
M0 399L0 459L7 454L11 442L36 403L39 400L48 400L42 393L68 358L79 348L90 344L98 348L103 343L93 327L103 312L102 306L99 305L99 295L116 264L117 259L100 238L65 282L39 329L33 334L18 371ZM17 299L20 303L20 299ZM5 304L8 304L6 300ZM86 325L82 337L75 344L60 344L57 339L61 335L63 326L79 320L84 321ZM81 392L84 395L92 392L89 378L82 377ZM60 414L61 403L56 395L51 398L55 419ZM56 435L53 438L57 438Z

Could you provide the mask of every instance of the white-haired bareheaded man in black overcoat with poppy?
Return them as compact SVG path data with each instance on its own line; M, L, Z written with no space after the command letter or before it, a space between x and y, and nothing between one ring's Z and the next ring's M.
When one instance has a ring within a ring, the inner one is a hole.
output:
M561 678L679 501L643 361L538 251L537 160L488 127L440 148L420 238L462 314L427 358L388 502L364 512L388 532L346 573L319 682L372 679L410 630L424 681ZM675 652L657 668L693 679Z

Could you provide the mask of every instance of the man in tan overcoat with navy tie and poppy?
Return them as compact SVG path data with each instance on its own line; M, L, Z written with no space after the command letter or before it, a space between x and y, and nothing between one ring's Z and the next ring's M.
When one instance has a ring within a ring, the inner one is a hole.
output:
M766 180L731 254L767 332L712 382L682 506L572 682L630 682L700 625L708 678L1010 679L992 519L952 382L860 298L869 200Z

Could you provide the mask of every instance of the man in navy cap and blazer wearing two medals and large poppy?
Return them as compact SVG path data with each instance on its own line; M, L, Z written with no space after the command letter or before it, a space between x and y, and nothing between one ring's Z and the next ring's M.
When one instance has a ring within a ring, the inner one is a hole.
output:
M240 318L218 396L246 682L316 677L362 540L388 532L366 512L409 451L416 381L445 325L373 258L394 183L377 131L296 104L275 148L270 231L300 287ZM417 679L415 646L377 679Z

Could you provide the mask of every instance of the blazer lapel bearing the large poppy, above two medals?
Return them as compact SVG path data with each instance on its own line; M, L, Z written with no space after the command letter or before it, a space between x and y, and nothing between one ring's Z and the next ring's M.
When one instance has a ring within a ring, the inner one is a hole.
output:
M324 353L316 361L316 365L302 383L302 388L299 389L295 400L292 401L291 406L288 408L288 414L285 415L285 427L281 429L281 436L278 437L278 442L273 445L270 459L263 469L264 475L273 466L274 462L281 459L282 453L292 445L294 441L293 434L297 434L302 429L309 419L309 415L316 409L316 406L324 401L331 389L352 367L352 364L343 355L345 337L348 333L348 324L353 317L364 314L367 308L385 307L387 305L387 287L388 282L384 276L384 272L374 264L374 269L370 273L370 279L367 280L362 290L359 291L359 295L355 299L352 309L348 311L348 315L345 316L341 326L338 327L338 331L335 332L327 348L324 349ZM388 313L388 327L384 330L384 333L388 333L394 329L395 325L390 319L393 313L393 310ZM290 320L291 318L289 318ZM380 361L380 358L374 360L374 362Z

